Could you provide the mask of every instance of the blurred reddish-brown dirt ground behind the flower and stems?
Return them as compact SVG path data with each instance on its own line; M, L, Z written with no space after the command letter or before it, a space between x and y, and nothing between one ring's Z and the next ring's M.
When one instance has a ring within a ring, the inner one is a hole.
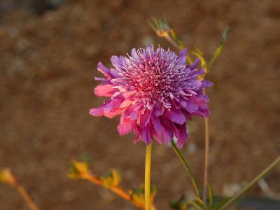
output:
M280 153L280 1L0 1L0 168L9 167L41 210L134 209L87 181L66 177L73 158L87 153L94 174L116 167L123 187L144 181L142 143L120 137L118 118L94 118L102 99L92 90L97 62L148 43L169 46L147 24L167 19L184 43L207 57L230 25L221 57L211 69L211 165L218 195L248 183ZM50 10L51 9L51 10ZM203 120L189 123L183 148L202 182ZM192 188L172 148L155 144L155 204L169 209L172 197ZM280 167L266 178L280 193ZM249 195L265 197L255 186ZM22 197L0 185L1 210L27 210Z

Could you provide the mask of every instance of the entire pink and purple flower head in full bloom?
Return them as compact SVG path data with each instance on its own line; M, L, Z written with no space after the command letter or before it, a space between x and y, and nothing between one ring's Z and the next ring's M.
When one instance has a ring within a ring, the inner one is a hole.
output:
M114 66L106 68L99 62L97 69L106 78L94 93L110 99L99 108L90 109L92 116L113 118L120 115L118 132L134 132L134 142L142 139L151 144L153 139L168 144L173 137L181 148L188 139L186 121L193 116L209 116L204 87L212 85L198 76L203 69L199 63L186 64L186 49L177 56L171 50L148 45L146 49L132 49L127 57L111 57Z

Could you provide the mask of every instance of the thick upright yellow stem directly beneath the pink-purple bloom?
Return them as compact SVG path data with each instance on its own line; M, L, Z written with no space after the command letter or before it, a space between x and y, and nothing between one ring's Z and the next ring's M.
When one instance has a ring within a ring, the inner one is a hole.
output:
M151 210L151 158L153 143L146 147L146 163L145 163L145 209Z

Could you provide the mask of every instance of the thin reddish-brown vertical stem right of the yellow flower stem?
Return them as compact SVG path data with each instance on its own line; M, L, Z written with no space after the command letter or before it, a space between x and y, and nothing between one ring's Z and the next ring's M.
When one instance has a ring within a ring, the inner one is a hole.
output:
M205 92L205 90L204 90ZM205 126L205 160L204 160L204 183L203 183L203 201L207 202L207 183L208 183L208 167L209 167L209 118L204 118Z

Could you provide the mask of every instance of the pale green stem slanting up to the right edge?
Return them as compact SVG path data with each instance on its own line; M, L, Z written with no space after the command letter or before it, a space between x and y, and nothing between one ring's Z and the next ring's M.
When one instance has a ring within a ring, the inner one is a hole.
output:
M256 176L255 179L253 179L250 183L248 183L248 185L245 188L240 190L239 193L237 193L230 200L228 200L228 202L223 204L220 210L229 207L232 203L234 203L237 199L239 199L239 197L244 195L244 193L246 193L247 190L249 190L255 183L257 183L260 179L262 179L263 176L268 174L278 164L280 164L280 156L276 158L276 160L274 160L265 170L263 170L260 174L258 174L258 176Z

